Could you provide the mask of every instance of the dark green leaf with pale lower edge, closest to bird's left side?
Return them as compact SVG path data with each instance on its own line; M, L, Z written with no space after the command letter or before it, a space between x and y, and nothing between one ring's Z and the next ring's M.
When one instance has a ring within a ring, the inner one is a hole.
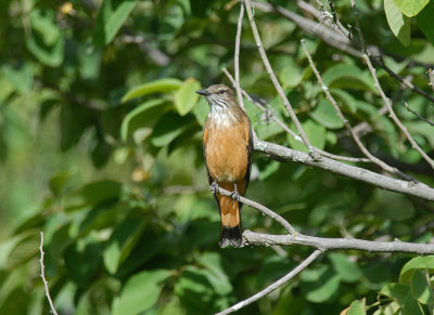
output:
M155 123L151 143L155 146L166 146L184 131L191 119L181 117L173 111L163 115Z

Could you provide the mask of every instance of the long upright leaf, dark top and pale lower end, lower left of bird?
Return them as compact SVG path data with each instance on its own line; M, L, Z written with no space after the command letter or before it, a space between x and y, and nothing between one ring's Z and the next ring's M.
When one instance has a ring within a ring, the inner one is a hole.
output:
M115 274L127 259L143 233L148 222L142 218L127 218L118 224L104 250L104 265L108 273Z

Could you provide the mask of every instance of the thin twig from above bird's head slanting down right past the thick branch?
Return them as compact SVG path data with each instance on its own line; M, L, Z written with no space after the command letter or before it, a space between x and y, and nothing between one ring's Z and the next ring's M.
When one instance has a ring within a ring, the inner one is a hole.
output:
M224 74L228 77L228 79L231 81L232 86L235 88L235 80L233 79L232 75L229 74L229 71L224 68ZM252 102L256 107L258 107L260 110L263 110L264 113L267 113L269 115L269 117L275 120L285 132L288 132L292 137L294 137L296 141L302 142L302 139L295 134L294 131L292 131L290 128L288 128L288 126L280 120L276 114L273 113L272 109L270 108L266 108L263 106L263 104L256 100L254 100L245 90L243 90L242 88L240 88L240 91L242 93L242 95L244 95L245 99L247 99L250 102ZM342 161L347 161L347 162L370 162L369 159L367 158L355 158L355 157L346 157L346 156L340 156L340 155L335 155L326 150L322 150L318 147L315 147L321 155L327 156L329 158L335 159L335 160L342 160Z

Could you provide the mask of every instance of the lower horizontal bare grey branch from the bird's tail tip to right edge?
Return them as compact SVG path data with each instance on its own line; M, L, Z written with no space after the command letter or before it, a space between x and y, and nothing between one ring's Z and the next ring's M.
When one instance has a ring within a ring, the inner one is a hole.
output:
M302 245L321 250L355 249L368 252L406 252L414 254L434 254L434 244L407 242L395 239L394 241L374 241L357 238L324 238L295 235L270 235L245 231L243 237L251 244L257 245Z

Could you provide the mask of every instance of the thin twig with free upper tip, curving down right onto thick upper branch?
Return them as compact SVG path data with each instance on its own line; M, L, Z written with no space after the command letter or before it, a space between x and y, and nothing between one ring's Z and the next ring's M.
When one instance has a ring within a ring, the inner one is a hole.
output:
M353 1L353 0L352 0ZM334 109L337 113L337 116L340 117L340 119L344 122L345 128L348 130L349 134L352 135L354 142L357 144L357 146L359 147L359 149L365 154L365 156L367 158L369 158L373 163L380 166L383 170L390 172L390 173L395 173L397 175L399 175L401 179L405 179L407 181L413 181L417 182L417 180L414 180L413 178L403 173L401 171L399 171L396 168L393 168L391 166L388 166L387 163L385 163L384 161L382 161L381 159L379 159L378 157L373 156L367 148L366 146L361 143L360 139L357 136L357 134L354 132L352 126L349 124L348 119L345 118L344 114L342 113L341 108L339 107L336 101L334 100L334 97L332 96L332 94L329 91L329 88L326 86L324 81L321 78L321 75L319 74L317 67L315 66L315 63L312 61L311 55L309 54L309 52L307 51L306 44L305 44L305 40L302 39L302 47L303 47L303 51L305 52L305 55L309 62L310 68L314 70L315 76L317 77L317 80L319 82L319 84L321 86L322 91L326 93L327 99L330 101L330 103L333 105Z

